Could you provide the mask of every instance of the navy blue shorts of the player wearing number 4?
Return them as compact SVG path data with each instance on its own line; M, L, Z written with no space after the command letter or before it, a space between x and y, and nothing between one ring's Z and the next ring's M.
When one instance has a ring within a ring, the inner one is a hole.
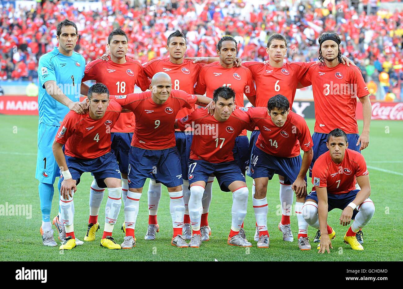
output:
M106 178L120 179L120 170L113 151L91 160L73 158L72 156L65 157L71 177L77 181L77 185L80 183L83 173L91 173L100 188L106 188L104 183ZM63 181L63 175L60 175L60 181Z

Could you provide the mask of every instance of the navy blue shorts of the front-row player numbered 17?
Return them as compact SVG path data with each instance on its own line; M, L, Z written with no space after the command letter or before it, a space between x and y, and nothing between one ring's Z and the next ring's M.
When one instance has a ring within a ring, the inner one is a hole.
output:
M207 184L208 177L211 174L217 178L221 191L231 191L228 186L235 181L245 182L245 176L242 174L238 163L233 160L231 162L220 162L214 164L205 160L192 160L188 162L188 179L189 184L197 181L205 181Z

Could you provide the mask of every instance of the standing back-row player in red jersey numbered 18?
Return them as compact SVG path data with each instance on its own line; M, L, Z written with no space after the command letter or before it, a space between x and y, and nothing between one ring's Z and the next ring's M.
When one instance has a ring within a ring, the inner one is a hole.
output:
M120 28L114 29L108 36L107 48L110 50L110 61L104 62L96 59L85 67L83 81L96 80L108 87L111 95L129 94L134 92L137 84L145 91L150 86L150 80L143 72L141 63L126 56L128 38ZM111 148L118 161L122 174L123 202L127 198L129 184L127 183L127 168L129 165L130 142L135 127L134 114L123 113L111 130ZM100 210L105 189L98 187L93 180L89 194L89 220L85 241L95 240L95 232L98 230L98 212Z

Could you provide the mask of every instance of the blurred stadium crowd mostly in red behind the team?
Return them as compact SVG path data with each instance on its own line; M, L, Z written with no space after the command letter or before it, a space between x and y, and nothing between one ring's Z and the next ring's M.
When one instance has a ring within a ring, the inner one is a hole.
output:
M229 34L239 42L238 56L265 60L269 35L282 33L292 61L317 59L318 36L334 31L341 37L344 54L359 66L367 82L377 81L381 71L389 74L392 86L403 79L403 73L395 69L403 64L403 11L377 9L377 1L362 0L362 13L345 0L337 0L335 6L331 1L324 6L321 0L101 2L102 11L80 12L62 1L33 2L36 6L29 8L2 7L0 79L35 79L38 59L56 46L56 25L65 18L77 23L76 51L87 62L105 52L108 34L116 27L127 32L128 55L141 63L165 56L166 37L177 28L187 37L189 57L215 56L215 44Z

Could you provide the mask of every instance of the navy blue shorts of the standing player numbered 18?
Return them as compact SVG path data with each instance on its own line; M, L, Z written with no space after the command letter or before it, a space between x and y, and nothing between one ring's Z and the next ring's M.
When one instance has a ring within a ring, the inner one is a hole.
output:
M133 133L111 133L111 148L118 161L120 173L127 175L129 167L129 150Z

